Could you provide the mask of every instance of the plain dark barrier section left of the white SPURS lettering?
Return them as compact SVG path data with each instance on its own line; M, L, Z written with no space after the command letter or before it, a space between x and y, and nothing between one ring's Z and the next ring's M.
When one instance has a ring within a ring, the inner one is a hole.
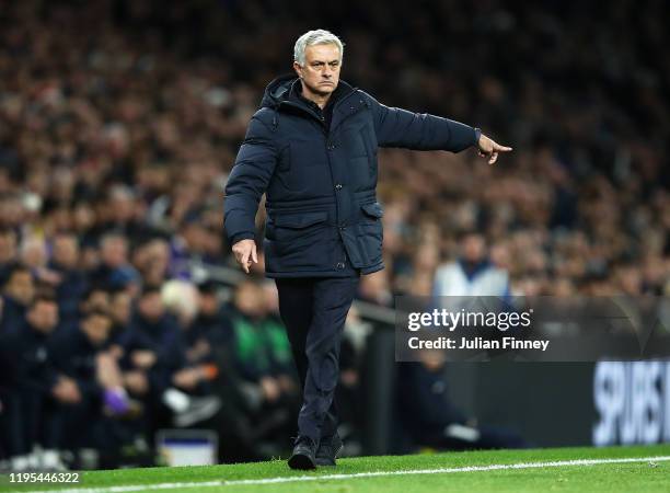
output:
M592 363L449 363L454 403L484 426L519 433L530 446L591 445L597 420Z

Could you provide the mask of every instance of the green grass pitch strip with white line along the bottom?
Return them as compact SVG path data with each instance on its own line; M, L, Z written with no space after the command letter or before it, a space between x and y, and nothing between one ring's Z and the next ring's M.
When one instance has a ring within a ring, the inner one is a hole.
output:
M82 473L79 484L69 485L16 484L3 474L0 491L670 492L670 444L361 457L340 459L337 468L307 473L289 470L284 460L91 471Z

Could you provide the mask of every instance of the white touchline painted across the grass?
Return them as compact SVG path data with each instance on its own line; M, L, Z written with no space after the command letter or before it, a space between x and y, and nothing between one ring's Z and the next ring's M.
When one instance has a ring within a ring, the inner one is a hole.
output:
M371 471L356 472L353 474L324 474L324 475L293 475L284 478L265 478L249 480L220 480L203 481L188 483L159 483L159 484L132 484L126 486L106 488L70 488L68 490L46 490L51 493L126 493L134 491L153 490L176 490L177 488L216 488L216 486L243 486L254 484L277 484L297 483L302 481L324 481L324 480L345 480L353 478L377 478L384 475L406 475L406 474L449 474L453 472L480 472L480 471L500 471L506 469L541 469L541 468L564 468L570 466L598 466L602 463L629 463L629 462L667 462L670 456L659 457L626 457L621 459L576 459L576 460L554 460L550 462L520 462L520 463L495 463L490 466L464 466L461 468L443 469L407 469L403 471ZM11 493L11 492L10 492ZM16 492L19 493L19 492ZM42 491L28 491L20 493L45 493Z

